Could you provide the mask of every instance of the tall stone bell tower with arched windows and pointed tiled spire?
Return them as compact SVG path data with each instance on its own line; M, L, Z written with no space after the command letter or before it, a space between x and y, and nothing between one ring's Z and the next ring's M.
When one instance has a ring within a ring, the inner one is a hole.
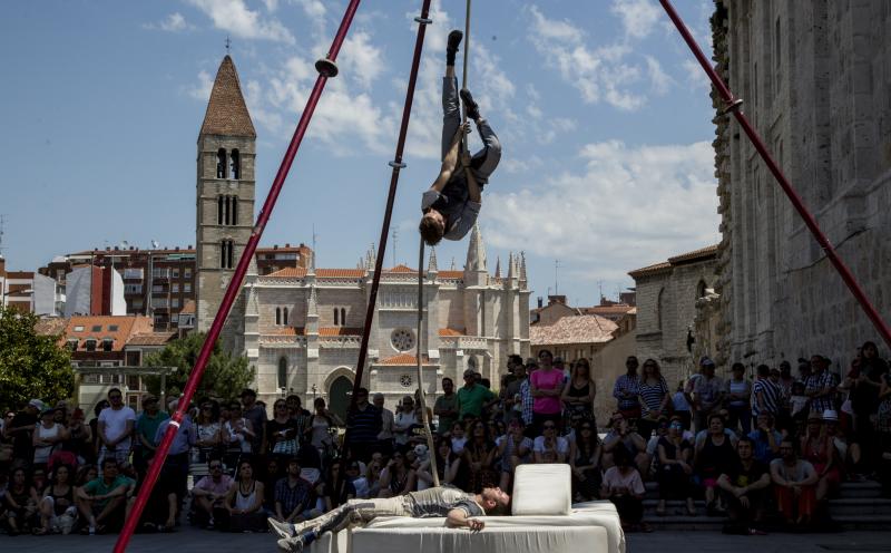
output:
M227 55L219 64L198 134L196 328L202 332L210 328L254 225L256 136L238 72ZM248 271L253 273L256 268ZM243 347L236 343L237 329L243 328L242 295L223 332L227 349Z

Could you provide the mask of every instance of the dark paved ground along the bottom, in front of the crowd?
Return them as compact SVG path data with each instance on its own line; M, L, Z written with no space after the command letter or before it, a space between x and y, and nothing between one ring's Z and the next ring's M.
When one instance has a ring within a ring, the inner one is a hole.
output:
M18 536L0 535L0 552L81 553L108 552L116 536ZM136 535L129 553L254 553L275 552L268 534L222 534L182 528L174 534ZM628 535L628 553L829 553L891 552L891 532L844 532L840 534L772 534L725 536L717 532L654 532Z

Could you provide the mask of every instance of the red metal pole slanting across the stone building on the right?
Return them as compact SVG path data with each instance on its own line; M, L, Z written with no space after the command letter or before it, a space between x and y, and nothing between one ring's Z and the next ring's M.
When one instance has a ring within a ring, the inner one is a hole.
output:
M795 192L795 188L792 187L792 184L789 182L786 176L783 174L783 171L774 161L773 156L771 156L770 152L767 152L767 147L764 145L764 142L761 139L761 136L752 127L746 118L745 114L742 110L742 100L735 98L733 93L727 85L724 84L721 76L718 76L717 71L712 67L708 59L705 57L703 51L699 49L699 46L694 40L693 36L691 35L689 30L687 29L686 25L684 25L684 20L681 19L677 11L675 11L672 2L669 0L659 0L662 7L665 8L665 11L668 13L668 17L672 18L672 22L675 23L677 27L678 32L684 38L684 41L687 43L689 49L693 51L693 55L696 57L696 60L703 66L703 69L708 75L708 79L712 80L712 84L715 86L715 89L721 95L724 103L727 105L727 110L732 111L736 120L740 123L740 126L743 127L746 136L748 139L752 140L752 145L755 146L755 149L761 154L761 158L764 159L764 163L767 165L767 168L771 169L774 178L780 184L780 187L783 188L785 192L786 197L789 201L792 202L792 205L795 207L795 211L799 212L799 215L802 220L804 220L804 224L807 225L807 229L813 234L816 242L820 244L820 248L826 252L826 258L830 260L832 265L841 275L844 283L848 285L848 289L854 295L856 301L860 303L860 307L865 311L866 317L870 318L875 330L884 339L885 343L891 347L891 330L888 328L888 324L882 319L882 316L879 314L875 307L870 302L869 298L866 298L866 293L861 288L860 283L856 281L854 275L851 273L851 270L848 269L844 261L839 258L835 249L830 243L829 239L826 239L823 231L820 230L820 225L816 223L816 220L811 212L807 211L807 207L804 206L801 196L799 193Z

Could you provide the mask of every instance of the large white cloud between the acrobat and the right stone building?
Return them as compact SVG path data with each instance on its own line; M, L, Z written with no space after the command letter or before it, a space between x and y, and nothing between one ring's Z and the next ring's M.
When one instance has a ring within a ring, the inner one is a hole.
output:
M579 157L581 171L545 182L538 172L518 192L487 187L487 241L549 259L590 260L596 274L625 280L629 270L718 240L709 143L609 140L585 146Z

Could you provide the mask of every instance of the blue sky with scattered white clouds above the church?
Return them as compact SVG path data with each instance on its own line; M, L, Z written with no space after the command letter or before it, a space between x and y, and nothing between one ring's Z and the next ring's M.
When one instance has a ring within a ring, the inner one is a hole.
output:
M355 266L380 234L420 0L365 0L266 227ZM446 35L434 1L386 262L417 264L420 193L438 171ZM678 0L703 48L711 0ZM121 241L195 243L195 157L232 56L257 129L265 197L345 0L16 2L0 19L3 254L16 270ZM469 88L503 143L480 222L490 271L526 253L533 297L593 304L627 271L719 239L702 70L656 0L477 1ZM476 140L476 134L471 140ZM471 145L476 143L471 142ZM262 201L257 201L257 208ZM461 268L467 242L438 249Z

